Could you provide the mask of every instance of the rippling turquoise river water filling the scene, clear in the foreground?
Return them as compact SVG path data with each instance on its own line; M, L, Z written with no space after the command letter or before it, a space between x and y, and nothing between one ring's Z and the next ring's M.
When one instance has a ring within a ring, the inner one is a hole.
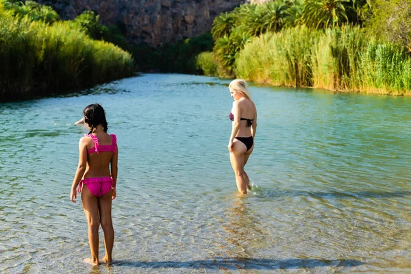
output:
M411 98L251 86L253 188L239 197L228 83L147 74L0 104L0 271L411 273ZM90 103L119 142L112 267L82 262L69 199Z

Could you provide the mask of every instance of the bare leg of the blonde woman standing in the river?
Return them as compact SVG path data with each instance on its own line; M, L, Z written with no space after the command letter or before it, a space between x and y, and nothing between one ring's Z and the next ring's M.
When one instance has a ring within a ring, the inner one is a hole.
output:
M234 140L233 142L233 152L229 153L229 158L236 175L236 184L238 191L242 194L247 193L247 175L244 172L245 164L245 152L247 147L240 141Z

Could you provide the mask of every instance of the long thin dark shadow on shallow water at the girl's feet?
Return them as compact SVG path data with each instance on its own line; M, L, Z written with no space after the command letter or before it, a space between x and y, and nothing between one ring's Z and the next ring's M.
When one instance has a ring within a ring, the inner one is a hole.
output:
M139 262L116 260L113 266L127 266L147 269L312 269L321 266L359 266L358 260L319 260L319 259L258 259L258 258L210 258L208 260Z

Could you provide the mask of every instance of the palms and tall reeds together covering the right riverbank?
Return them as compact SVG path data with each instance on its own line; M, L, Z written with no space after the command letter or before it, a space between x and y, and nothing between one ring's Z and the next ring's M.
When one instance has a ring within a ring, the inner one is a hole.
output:
M411 95L411 1L276 0L214 20L206 75ZM388 20L388 18L390 20Z

